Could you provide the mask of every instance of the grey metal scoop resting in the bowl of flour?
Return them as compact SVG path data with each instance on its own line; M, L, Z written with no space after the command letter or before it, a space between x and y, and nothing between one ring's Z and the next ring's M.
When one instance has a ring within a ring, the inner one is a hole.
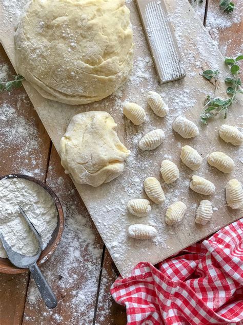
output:
M42 295L42 298L45 301L47 308L53 309L57 305L56 297L36 264L36 261L38 260L40 253L43 250L42 238L39 236L38 231L35 229L34 225L31 223L31 221L29 220L28 216L25 214L25 211L21 208L21 206L19 206L19 209L21 210L23 217L25 218L26 222L28 223L31 230L35 234L35 237L38 240L39 245L38 245L37 253L34 256L30 256L30 257L22 254L18 254L9 246L9 244L4 239L2 233L0 233L0 239L3 243L4 249L6 250L7 256L11 261L11 263L13 263L17 267L29 268L33 276L33 279L37 285L37 288L40 292L40 295Z

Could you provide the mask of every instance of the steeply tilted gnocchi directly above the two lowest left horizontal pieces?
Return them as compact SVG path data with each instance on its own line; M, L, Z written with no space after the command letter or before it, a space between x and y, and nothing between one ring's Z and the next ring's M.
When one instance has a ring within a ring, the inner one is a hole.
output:
M166 197L159 181L155 177L147 177L144 181L144 189L150 200L156 204L166 201Z

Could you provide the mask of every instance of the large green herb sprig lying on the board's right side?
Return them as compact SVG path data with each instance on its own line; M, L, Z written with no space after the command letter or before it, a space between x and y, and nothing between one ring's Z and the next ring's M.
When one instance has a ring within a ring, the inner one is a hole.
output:
M201 76L203 76L204 78L210 81L211 80L214 81L215 84L213 96L208 95L205 99L205 105L200 114L200 120L202 123L207 124L210 118L218 115L221 112L224 112L224 118L227 118L228 109L233 104L236 94L237 93L243 94L243 91L240 87L241 80L239 78L240 67L238 65L238 62L240 60L243 60L243 55L238 56L236 59L232 59L232 58L225 59L225 64L230 66L230 72L232 75L232 78L225 79L225 82L230 84L226 92L228 95L231 96L231 98L228 99L222 99L218 97L215 98L215 92L217 89L217 79L219 77L218 70L215 71L206 70L201 74Z

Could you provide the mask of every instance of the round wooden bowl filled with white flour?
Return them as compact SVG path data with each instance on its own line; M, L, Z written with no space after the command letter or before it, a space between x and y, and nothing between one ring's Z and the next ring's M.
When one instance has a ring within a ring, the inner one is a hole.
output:
M33 256L38 241L18 206L23 208L42 237L44 250L37 261L38 265L42 264L53 254L62 237L62 205L52 189L34 177L21 174L0 177L0 232L14 251ZM0 273L26 271L11 264L0 240Z

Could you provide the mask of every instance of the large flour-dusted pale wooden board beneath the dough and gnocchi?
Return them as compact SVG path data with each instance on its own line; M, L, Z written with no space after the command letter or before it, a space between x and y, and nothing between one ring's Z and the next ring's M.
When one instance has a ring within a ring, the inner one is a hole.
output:
M17 14L21 12L26 2L27 0L19 1L19 8L15 8L14 12L9 1L8 4L6 0L0 2L0 39L13 66L15 66L14 25L18 20ZM212 121L208 127L199 123L199 113L204 99L207 94L212 94L214 88L209 81L200 77L199 73L202 69L218 68L221 71L222 81L219 82L217 94L225 96L226 86L223 80L228 68L188 0L166 0L169 19L184 58L187 77L161 86L157 81L135 1L128 0L127 3L131 10L134 31L135 61L130 80L118 89L116 94L96 103L71 106L44 99L28 82L24 82L26 92L57 151L60 138L65 133L72 116L77 113L91 110L107 111L118 123L118 135L131 150L123 175L97 188L78 184L75 186L122 276L129 275L139 261L155 264L239 219L240 211L226 206L225 186L227 181L234 177L242 181L241 149L228 145L218 136L219 125L224 122L237 127L242 126L239 117L242 114L240 112L242 98L234 103L226 121L221 117ZM170 113L167 117L159 118L147 107L146 97L150 90L158 91L168 103ZM125 100L134 101L145 107L148 116L146 123L134 126L124 118L122 106ZM200 136L186 140L173 132L172 122L180 114L197 123ZM164 143L154 151L141 152L137 146L139 139L146 132L156 128L165 131ZM180 148L186 144L194 147L204 158L197 172L192 172L180 161ZM223 151L234 159L236 166L231 174L223 174L207 165L206 157L213 151ZM180 178L176 183L166 185L161 179L159 168L163 159L171 159L179 167ZM194 223L196 207L200 200L207 197L189 189L193 174L204 176L216 186L216 194L210 198L214 215L206 226ZM132 198L146 197L143 181L148 176L155 176L161 180L167 200L162 206L152 204L149 218L138 219L127 212L126 205ZM183 201L188 207L185 218L178 225L167 226L164 221L166 208L178 200ZM158 236L154 240L146 241L128 238L127 228L134 223L154 225Z

